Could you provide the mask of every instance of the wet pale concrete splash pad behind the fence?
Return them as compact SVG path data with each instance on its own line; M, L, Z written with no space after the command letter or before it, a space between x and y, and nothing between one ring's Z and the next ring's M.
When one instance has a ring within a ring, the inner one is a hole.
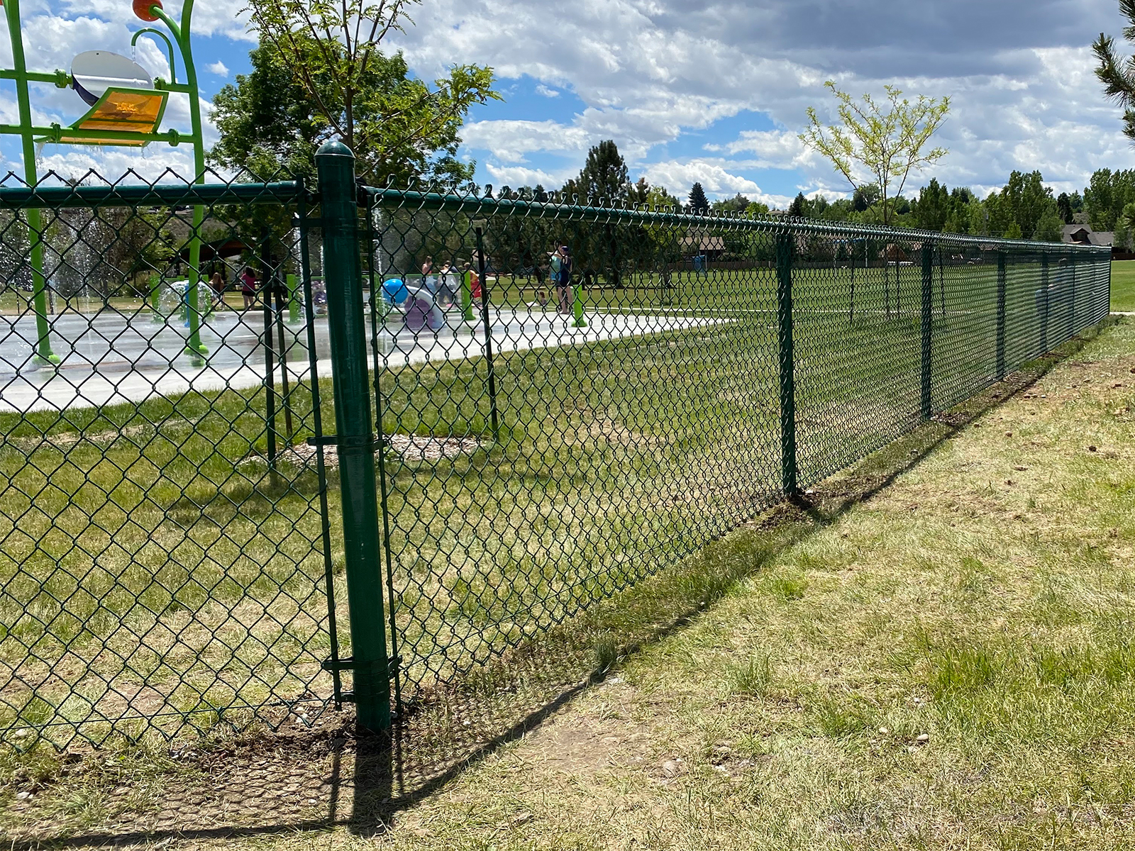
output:
M68 312L50 317L51 347L58 365L35 357L34 315L0 317L0 411L61 411L72 407L141 402L153 395L186 390L246 388L264 382L264 314L260 309L222 311L208 317L201 342L208 354L186 354L188 328L178 315L154 318L143 310L124 314ZM704 317L629 313L588 313L586 328L572 318L540 309L491 307L489 326L495 352L514 352L595 340L641 336L728 321ZM271 318L274 330L278 328ZM316 372L331 374L327 317L313 319ZM370 331L370 328L368 328ZM305 321L284 319L287 370L292 381L310 376ZM278 338L275 344L279 348ZM380 326L379 359L384 366L485 354L480 314L462 321L451 311L437 331L411 330L397 314ZM368 362L373 357L368 353ZM275 380L281 379L280 368Z

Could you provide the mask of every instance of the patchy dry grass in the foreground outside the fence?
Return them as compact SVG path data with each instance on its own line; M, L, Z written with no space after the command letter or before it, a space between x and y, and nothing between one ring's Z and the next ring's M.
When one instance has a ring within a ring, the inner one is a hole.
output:
M31 765L3 827L175 849L1129 848L1135 323L1066 351L590 616L592 684L423 798L355 800L351 742L299 732L78 758L66 782ZM639 596L678 625L625 630Z

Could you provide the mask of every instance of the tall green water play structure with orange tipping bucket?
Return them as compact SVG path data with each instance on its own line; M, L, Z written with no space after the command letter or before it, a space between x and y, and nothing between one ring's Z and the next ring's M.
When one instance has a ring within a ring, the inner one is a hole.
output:
M39 183L35 168L35 145L44 142L83 145L124 145L144 148L151 142L166 142L170 145L193 145L193 182L204 183L204 148L201 137L201 99L197 92L197 73L193 66L193 49L190 44L190 25L193 17L193 0L184 0L180 22L175 22L162 8L161 0L134 0L134 14L146 23L160 20L174 36L160 30L143 27L134 33L131 45L137 43L142 35L153 35L166 42L169 54L169 75L167 82L160 77L153 79L152 87L137 85L136 78L115 79L110 77L109 85L100 92L87 91L75 66L72 71L54 70L50 73L30 71L24 57L24 36L19 20L19 0L2 0L5 17L8 22L8 36L11 40L12 67L0 69L0 79L11 79L16 83L16 100L19 108L19 124L0 124L0 133L17 135L23 142L24 179L30 186ZM177 82L177 67L174 57L174 44L182 57L185 69L185 82ZM84 59L85 68L123 67L123 62L134 65L132 60L106 51L90 51L76 57L76 65ZM137 68L137 66L134 66ZM137 68L143 74L144 69ZM90 73L90 71L89 71ZM146 78L149 75L146 74ZM64 127L59 124L35 126L32 124L32 104L28 83L51 83L58 89L74 89L90 109L74 124ZM190 132L174 128L159 132L166 102L170 92L180 92L190 98ZM51 351L50 323L48 322L47 279L43 276L43 225L40 210L27 209L28 239L31 243L32 263L32 305L36 323L36 361L43 365L58 364L59 357ZM204 220L204 208L200 204L193 208L193 230L190 236L190 286L188 286L188 320L190 336L185 352L200 362L208 349L201 343L201 309L199 305L197 283L201 279L201 224ZM157 290L151 292L151 303L157 304Z

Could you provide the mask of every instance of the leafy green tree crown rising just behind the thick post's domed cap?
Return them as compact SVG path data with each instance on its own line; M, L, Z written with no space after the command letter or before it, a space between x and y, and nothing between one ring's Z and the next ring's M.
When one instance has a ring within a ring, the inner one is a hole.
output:
M343 140L372 183L414 170L468 179L455 158L457 130L470 107L499 100L491 68L456 65L431 87L409 76L401 53L384 54L382 41L412 23L407 8L415 2L249 0L250 27L272 53L267 61L278 64L272 77L288 73L303 92L294 118L311 123L313 143Z

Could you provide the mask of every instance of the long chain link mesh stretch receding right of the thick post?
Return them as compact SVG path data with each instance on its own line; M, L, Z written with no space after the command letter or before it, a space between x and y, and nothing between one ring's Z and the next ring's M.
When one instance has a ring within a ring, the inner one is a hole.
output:
M1108 313L1079 246L368 196L403 708Z

